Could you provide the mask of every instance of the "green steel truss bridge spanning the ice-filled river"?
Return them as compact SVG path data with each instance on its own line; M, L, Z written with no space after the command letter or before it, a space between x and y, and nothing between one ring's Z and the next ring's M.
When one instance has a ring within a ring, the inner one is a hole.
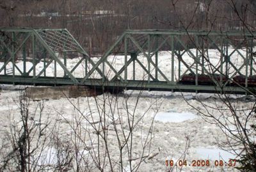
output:
M95 58L67 29L0 28L0 83L244 94L254 87L255 35L127 30ZM182 82L188 75L195 81ZM243 88L232 84L237 75Z

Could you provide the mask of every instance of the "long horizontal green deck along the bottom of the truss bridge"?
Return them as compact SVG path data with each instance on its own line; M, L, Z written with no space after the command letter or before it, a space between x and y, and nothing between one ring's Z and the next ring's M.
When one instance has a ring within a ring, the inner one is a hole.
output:
M82 81L83 78L76 78L77 81ZM20 84L20 85L35 85L35 86L60 86L60 85L72 85L73 82L69 78L65 77L33 77L24 76L4 76L0 75L0 83L2 84ZM191 86L187 84L170 84L168 82L151 81L127 81L120 82L120 80L104 82L102 79L90 79L84 82L85 86L95 86L95 88L102 89L102 86L108 89L127 89L127 90L150 90L150 91L183 91L183 92L197 92L197 93L236 93L244 95L246 90L234 86L226 86L225 88L219 88L217 86ZM253 89L253 88L251 88Z

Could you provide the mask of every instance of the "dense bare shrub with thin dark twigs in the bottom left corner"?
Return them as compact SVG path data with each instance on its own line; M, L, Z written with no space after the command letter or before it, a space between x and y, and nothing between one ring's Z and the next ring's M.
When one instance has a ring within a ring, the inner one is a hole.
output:
M44 102L38 102L33 110L30 104L30 99L20 93L20 114L10 113L10 126L1 145L1 171L65 171L72 159L56 132L58 123L51 123L50 114L42 120Z

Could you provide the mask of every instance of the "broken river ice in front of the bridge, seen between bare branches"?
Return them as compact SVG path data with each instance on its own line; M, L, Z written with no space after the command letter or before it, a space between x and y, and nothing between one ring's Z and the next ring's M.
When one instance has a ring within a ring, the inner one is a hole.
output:
M10 130L10 121L16 121L19 123L19 94L20 91L13 90L3 90L0 95L0 125L1 125L1 137L4 136L6 131ZM148 92L143 91L125 91L124 94L118 95L99 95L96 99L99 103L99 106L102 106L104 103L101 101L104 97L114 97L118 98L118 108L120 114L124 115L123 127L128 127L127 118L125 118L125 106L124 101L125 97L129 96L127 100L127 105L131 111L135 108L134 103L136 102L138 95L140 98L138 100L138 106L136 106L136 115L142 116L141 114L145 113L143 119L139 122L140 127L134 130L134 157L138 157L141 150L141 141L145 139L147 135L150 123L152 118L154 120L153 135L151 141L150 152L158 153L153 159L146 159L145 162L141 164L141 170L139 171L164 171L166 167L164 165L165 160L169 157L173 160L179 160L184 153L186 146L186 137L189 137L190 147L186 155L186 159L189 163L192 160L207 159L214 163L216 157L220 154L225 161L228 161L229 158L234 158L234 155L224 153L223 151L218 150L216 145L216 139L225 140L225 136L221 130L216 126L210 123L206 123L200 115L193 109L188 106L185 99L192 104L193 106L200 108L200 104L196 102L195 97L200 97L205 103L214 106L214 104L221 104L219 100L216 100L216 95L209 94L200 94L195 95L191 93L185 93L184 97L180 93L168 93L168 92ZM243 98L234 98L234 101L239 101L241 106L246 106L250 108L253 102L243 101ZM88 106L90 105L91 111L93 113L94 120L99 120L99 114L97 114L97 106L95 100L92 97L81 97L81 98L70 98L67 100L61 98L60 100L47 100L45 101L45 110L42 121L47 120L47 114L51 114L51 121L60 121L60 133L63 136L67 137L72 132L70 128L70 123L74 120L74 106L70 103L76 104L80 109L83 110L83 113L88 113ZM29 109L33 113L38 106L38 102L30 102ZM110 106L110 105L109 105ZM111 105L113 106L113 104ZM172 111L170 111L172 109ZM186 112L186 113L184 113ZM217 113L217 111L216 111ZM10 119L10 114L13 114ZM60 116L61 114L61 116ZM35 116L36 120L36 116ZM85 126L88 125L86 121L81 121ZM86 124L87 123L87 124ZM111 129L111 126L109 126ZM88 130L90 129L88 125ZM3 138L2 138L3 139ZM111 145L116 146L116 137L115 134L109 131L109 142ZM115 146L111 149L111 153L115 155ZM138 153L136 153L138 152ZM52 152L51 152L52 153ZM223 156L223 154L225 156ZM184 167L183 171L195 171L201 168L199 167ZM226 168L230 169L230 168ZM203 168L202 171L205 169ZM220 171L220 167L212 168L213 171Z

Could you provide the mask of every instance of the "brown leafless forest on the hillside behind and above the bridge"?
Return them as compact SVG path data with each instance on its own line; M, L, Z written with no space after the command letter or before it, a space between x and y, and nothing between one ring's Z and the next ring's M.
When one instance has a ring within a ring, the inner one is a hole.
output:
M255 12L254 0L0 0L0 27L67 28L102 54L125 29L254 31Z

